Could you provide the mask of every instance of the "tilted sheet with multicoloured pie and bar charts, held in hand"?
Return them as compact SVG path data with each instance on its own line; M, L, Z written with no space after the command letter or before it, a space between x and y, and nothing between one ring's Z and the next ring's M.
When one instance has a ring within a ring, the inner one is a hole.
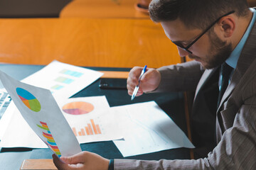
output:
M58 157L81 152L78 140L49 90L21 83L4 72L0 72L0 79L28 125Z

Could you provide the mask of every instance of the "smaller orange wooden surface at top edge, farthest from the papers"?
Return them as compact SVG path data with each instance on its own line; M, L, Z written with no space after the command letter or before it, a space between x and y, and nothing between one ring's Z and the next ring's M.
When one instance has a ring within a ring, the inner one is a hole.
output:
M135 9L138 0L73 0L60 12L60 18L149 18Z

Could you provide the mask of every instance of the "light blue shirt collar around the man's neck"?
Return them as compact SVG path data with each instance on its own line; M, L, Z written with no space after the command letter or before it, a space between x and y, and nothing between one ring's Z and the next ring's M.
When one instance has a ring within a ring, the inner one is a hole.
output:
M235 69L236 65L238 64L238 58L240 57L240 54L242 52L242 47L245 45L245 42L250 35L250 31L252 30L252 26L255 23L255 19L256 19L255 11L256 10L255 10L255 8L250 8L250 11L252 11L252 13L253 13L252 20L250 21L250 24L249 24L247 30L245 31L245 34L242 36L242 39L240 40L238 45L235 47L233 52L231 52L230 57L228 57L228 59L225 61L228 65L230 65L230 67L233 67L233 69Z

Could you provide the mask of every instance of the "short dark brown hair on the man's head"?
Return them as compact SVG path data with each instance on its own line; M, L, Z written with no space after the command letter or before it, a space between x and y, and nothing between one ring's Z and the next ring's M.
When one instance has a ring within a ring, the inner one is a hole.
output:
M152 0L149 15L156 23L179 18L187 28L205 29L230 11L247 16L248 8L246 0Z

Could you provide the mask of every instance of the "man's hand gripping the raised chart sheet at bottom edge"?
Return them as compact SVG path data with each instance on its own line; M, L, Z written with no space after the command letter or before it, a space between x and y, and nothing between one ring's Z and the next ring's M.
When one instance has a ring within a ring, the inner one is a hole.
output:
M71 157L60 157L60 159L53 154L53 163L61 170L107 170L110 164L109 159L91 152L80 152Z

